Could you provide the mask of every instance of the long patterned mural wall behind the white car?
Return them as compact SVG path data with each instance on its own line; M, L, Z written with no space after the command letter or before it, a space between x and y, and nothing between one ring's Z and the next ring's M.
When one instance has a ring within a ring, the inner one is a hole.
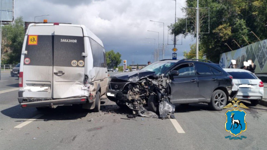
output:
M267 39L242 47L235 51L229 51L220 55L220 66L227 68L231 60L237 62L237 68L243 66L243 62L251 59L256 64L255 73L267 74Z

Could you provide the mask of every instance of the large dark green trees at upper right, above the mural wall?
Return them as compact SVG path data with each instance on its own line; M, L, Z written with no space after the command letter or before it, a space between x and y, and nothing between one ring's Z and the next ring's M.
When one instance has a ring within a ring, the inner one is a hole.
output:
M267 37L267 0L202 0L199 7L210 8L210 34L199 34L200 46L203 48L207 59L219 62L220 54L231 51L225 43L233 50L258 39L250 34L253 31L259 39ZM186 7L196 8L196 0L186 0ZM182 8L186 12L185 8ZM195 36L186 32L186 19L178 18L176 24L171 24L169 29L176 35ZM193 30L193 29L188 29ZM200 26L201 30L201 26ZM244 40L244 38L246 40Z

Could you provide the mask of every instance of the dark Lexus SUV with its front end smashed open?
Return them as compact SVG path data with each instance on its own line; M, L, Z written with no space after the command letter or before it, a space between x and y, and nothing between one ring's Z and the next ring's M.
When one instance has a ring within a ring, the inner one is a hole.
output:
M134 114L149 110L161 118L173 117L173 104L208 103L222 110L232 93L232 76L218 64L205 60L162 60L140 71L110 77L107 98ZM149 114L148 117L151 114Z

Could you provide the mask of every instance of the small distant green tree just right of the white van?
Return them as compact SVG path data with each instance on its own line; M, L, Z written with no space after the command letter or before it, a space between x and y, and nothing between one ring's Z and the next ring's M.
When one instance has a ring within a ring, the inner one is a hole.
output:
M117 68L122 62L121 54L119 52L115 53L113 50L106 51L106 65L109 68Z

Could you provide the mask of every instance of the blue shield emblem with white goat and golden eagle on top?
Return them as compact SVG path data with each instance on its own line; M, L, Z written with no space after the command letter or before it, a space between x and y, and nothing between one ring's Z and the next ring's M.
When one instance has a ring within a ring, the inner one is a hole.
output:
M223 107L223 109L232 107L232 110L227 110L225 113L226 115L225 130L235 136L235 137L231 136L225 137L229 138L230 140L232 139L242 140L242 138L247 138L244 136L237 137L239 134L247 130L247 122L246 122L247 113L244 110L239 110L239 108L249 109L247 106L245 106L243 103L240 102L241 102L240 100L234 98L234 100L232 100L232 103L229 103L228 105Z

